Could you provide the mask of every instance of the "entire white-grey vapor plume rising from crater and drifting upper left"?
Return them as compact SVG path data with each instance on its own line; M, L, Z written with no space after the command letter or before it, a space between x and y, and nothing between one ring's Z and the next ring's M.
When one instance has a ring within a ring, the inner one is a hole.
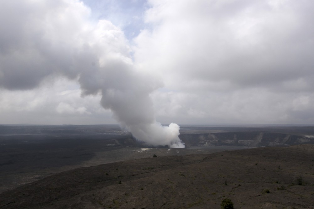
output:
M138 71L119 28L107 20L94 23L90 13L76 0L1 1L0 88L28 90L60 76L77 79L82 95L101 94L101 105L139 141L183 148L179 126L155 120L150 93L163 83Z

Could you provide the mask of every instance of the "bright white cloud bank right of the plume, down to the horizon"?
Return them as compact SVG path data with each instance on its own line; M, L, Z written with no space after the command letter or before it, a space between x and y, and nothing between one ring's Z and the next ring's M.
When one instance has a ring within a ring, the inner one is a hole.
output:
M157 118L314 123L312 106L292 112L313 98L312 2L149 2L150 28L135 39L134 57L170 91L154 93Z

